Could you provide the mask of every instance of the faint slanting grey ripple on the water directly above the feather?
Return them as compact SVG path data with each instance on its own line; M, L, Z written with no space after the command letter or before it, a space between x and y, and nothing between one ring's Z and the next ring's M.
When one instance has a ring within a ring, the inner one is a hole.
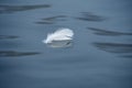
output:
M66 15L56 15L56 16L50 16L42 19L40 22L36 22L37 24L54 24L57 21L66 21Z

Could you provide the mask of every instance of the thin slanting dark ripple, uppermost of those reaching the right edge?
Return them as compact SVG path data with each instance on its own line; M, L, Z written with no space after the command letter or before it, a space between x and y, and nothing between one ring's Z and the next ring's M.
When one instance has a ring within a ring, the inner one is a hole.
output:
M132 33L113 32L97 28L88 28L88 29L94 31L94 34L97 35L108 35L108 36L132 35Z

